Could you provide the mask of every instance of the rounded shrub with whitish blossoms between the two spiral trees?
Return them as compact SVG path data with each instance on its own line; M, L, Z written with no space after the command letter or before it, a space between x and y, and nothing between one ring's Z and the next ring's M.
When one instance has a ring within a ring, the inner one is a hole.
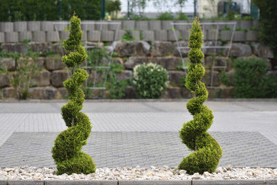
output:
M158 64L139 64L134 67L132 82L139 98L161 98L168 87L168 71Z

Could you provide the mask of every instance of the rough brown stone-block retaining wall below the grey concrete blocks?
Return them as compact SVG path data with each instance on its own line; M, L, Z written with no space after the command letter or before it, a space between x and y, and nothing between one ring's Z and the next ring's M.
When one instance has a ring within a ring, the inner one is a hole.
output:
M204 42L208 44L209 42ZM95 45L97 43L87 42L87 45ZM187 44L183 42L183 44ZM102 44L104 45L104 44ZM124 71L117 73L117 80L128 80L132 78L132 69L136 64L143 62L153 62L161 64L168 70L170 78L170 87L168 87L163 98L190 98L190 92L184 87L184 78L186 72L180 69L181 58L176 49L175 42L152 42L152 46L148 42L113 42L108 49L113 49L117 53L112 62L123 65ZM62 82L69 78L70 71L66 70L61 60L63 53L60 43L50 44L47 42L30 42L28 46L24 43L4 43L1 44L2 51L26 53L28 47L33 51L37 51L44 55L44 57L37 58L35 64L41 68L35 73L31 80L30 98L35 99L62 99L66 97L66 89ZM47 55L49 52L55 51L59 55ZM206 86L211 85L211 66L213 59L217 66L224 66L227 64L226 74L229 78L231 86L226 87L220 80L220 69L215 69L213 73L213 86L217 88L208 89L210 98L231 98L233 97L233 73L231 67L231 60L226 58L227 50L219 50L218 55L213 57L214 51L205 51L206 75L204 82ZM188 60L188 51L181 53L184 60ZM233 58L273 58L273 53L267 46L251 42L233 43L230 56ZM10 73L0 75L0 94L2 98L15 98L16 92L12 87L10 78L12 73L15 73L16 65L19 59L0 58L0 66L6 68ZM30 59L31 60L31 59ZM89 80L93 80L93 71L89 75ZM102 79L98 80L100 82ZM136 91L133 87L127 86L125 88L125 98L136 98ZM97 91L95 91L97 94ZM107 97L107 93L105 94Z

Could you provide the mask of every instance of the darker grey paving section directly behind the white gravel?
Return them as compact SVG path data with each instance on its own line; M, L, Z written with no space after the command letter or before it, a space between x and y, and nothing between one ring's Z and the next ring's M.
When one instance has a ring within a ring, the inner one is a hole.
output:
M219 166L253 166L257 164L254 159L258 159L258 165L267 159L277 162L277 146L258 132L210 133L224 152ZM57 134L15 132L0 148L0 166L7 166L8 159L11 166L43 167L42 164L47 163L48 167L55 166L51 158L51 148ZM125 161L129 161L131 166L167 165L173 168L190 152L181 141L177 141L178 132L91 132L84 152L93 157L98 167L126 166ZM8 155L8 151L13 151L14 155ZM236 157L238 161L230 161L229 155ZM7 158L3 159L3 156ZM150 163L150 157L158 160ZM107 166L103 166L103 161Z

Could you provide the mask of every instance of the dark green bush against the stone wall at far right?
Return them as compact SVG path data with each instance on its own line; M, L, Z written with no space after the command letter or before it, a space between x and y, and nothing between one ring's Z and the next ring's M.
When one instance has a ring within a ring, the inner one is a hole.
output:
M277 76L267 75L269 62L259 58L235 60L235 98L276 98Z

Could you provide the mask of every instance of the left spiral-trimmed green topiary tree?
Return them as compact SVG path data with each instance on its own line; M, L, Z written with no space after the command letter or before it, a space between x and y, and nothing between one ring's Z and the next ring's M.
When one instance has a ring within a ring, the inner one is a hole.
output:
M55 146L52 148L52 157L57 165L57 175L63 173L94 173L96 165L92 158L81 152L82 146L87 143L91 132L89 117L80 112L84 103L82 87L88 74L78 68L86 60L87 53L81 46L81 20L73 15L70 19L69 39L64 41L64 49L71 51L62 57L62 62L72 70L72 77L64 81L64 87L69 92L69 102L62 107L62 118L68 129L57 135Z

